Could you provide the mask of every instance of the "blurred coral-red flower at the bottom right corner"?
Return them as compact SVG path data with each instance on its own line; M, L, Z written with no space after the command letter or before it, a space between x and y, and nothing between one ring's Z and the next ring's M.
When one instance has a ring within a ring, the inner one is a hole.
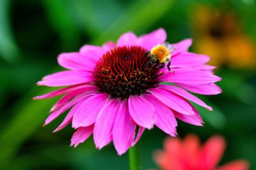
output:
M190 134L181 141L179 138L167 138L164 150L156 152L154 159L165 170L246 170L246 160L236 160L217 167L225 151L225 139L212 136L203 146L200 139Z

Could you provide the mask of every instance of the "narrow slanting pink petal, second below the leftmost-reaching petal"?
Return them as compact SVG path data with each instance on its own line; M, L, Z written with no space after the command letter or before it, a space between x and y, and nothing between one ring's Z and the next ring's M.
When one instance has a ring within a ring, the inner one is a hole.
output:
M69 108L74 106L76 103L78 103L79 101L82 101L83 99L85 99L86 97L89 97L91 95L92 94L79 94L79 95L77 95L76 97L74 97L74 99L72 99L72 101L65 104L62 108L60 108L57 111L52 112L51 115L49 115L49 117L47 117L47 119L45 120L44 125L49 124L50 122L52 122L52 120L59 117L62 113L67 111Z

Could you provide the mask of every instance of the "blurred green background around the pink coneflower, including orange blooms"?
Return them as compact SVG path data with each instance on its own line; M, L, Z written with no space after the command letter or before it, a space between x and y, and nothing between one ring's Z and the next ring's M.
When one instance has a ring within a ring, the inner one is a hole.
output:
M228 144L221 164L243 158L256 169L255 8L254 0L0 0L0 169L129 169L128 153L119 157L113 143L99 151L91 137L71 148L70 125L52 134L63 117L42 127L59 97L32 97L54 89L36 81L63 70L59 53L159 27L170 43L193 38L190 50L211 55L223 78L222 94L199 96L214 108L197 107L205 126L179 121L179 136L192 132L205 141L221 134ZM152 153L167 136L156 127L144 132L143 169L157 169Z

